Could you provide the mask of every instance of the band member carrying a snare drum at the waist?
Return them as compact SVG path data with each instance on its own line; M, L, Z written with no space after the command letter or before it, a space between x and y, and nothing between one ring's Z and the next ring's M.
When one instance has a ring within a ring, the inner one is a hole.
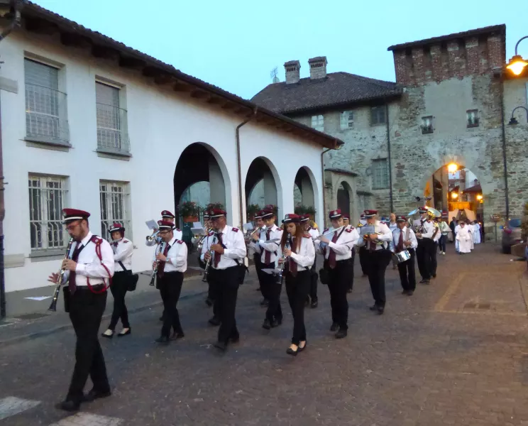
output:
M398 272L400 273L400 283L402 283L402 294L412 296L416 290L416 277L414 275L414 258L416 253L414 249L418 246L418 241L414 231L407 227L407 217L396 217L396 229L392 231L392 241L390 241L390 251L400 253L407 250L411 258L407 261L398 263Z

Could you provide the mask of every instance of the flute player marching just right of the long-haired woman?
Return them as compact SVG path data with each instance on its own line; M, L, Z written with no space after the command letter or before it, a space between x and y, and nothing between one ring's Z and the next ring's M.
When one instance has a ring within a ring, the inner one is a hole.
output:
M359 235L356 229L346 228L343 225L343 215L340 209L332 210L329 217L332 226L325 229L323 235L319 236L316 247L324 255L323 268L328 274L327 282L332 308L330 331L335 332L339 329L336 339L343 339L348 330L348 302L346 300L350 269L348 262ZM331 240L324 236L330 233L332 234ZM321 278L321 283L324 283L323 277L319 278Z

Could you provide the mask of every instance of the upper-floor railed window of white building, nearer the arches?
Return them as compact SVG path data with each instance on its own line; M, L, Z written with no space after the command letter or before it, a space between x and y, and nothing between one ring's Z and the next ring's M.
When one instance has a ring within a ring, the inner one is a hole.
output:
M97 148L101 151L130 153L126 109L106 104L97 107Z

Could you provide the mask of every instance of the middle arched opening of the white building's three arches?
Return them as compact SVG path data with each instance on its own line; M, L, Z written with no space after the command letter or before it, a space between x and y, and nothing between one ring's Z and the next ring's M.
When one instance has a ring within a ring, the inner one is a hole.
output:
M280 185L277 185L275 176L266 158L258 157L251 162L246 175L246 207L257 204L262 209L268 204L278 205L280 197L277 188ZM278 217L280 212L277 213Z

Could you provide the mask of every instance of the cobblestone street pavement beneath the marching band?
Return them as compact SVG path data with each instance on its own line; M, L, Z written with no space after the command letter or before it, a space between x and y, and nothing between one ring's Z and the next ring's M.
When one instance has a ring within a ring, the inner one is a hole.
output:
M114 394L74 416L53 408L72 372L71 330L21 342L0 349L0 423L528 425L525 269L490 244L464 256L450 245L438 278L412 297L387 270L383 316L368 311L368 280L356 278L339 341L320 285L319 307L306 312L307 350L295 358L285 354L291 315L262 329L255 283L239 293L241 342L223 355L210 345L216 328L202 297L182 302L186 337L167 347L153 344L160 309L144 310L131 317L131 336L102 342ZM284 293L282 306L290 312Z

